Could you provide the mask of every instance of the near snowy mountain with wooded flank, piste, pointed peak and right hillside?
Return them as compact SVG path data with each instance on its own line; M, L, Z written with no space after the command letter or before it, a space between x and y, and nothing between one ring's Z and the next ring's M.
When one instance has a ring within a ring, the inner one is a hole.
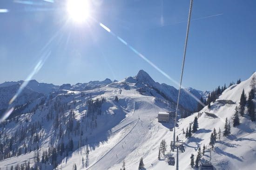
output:
M248 96L253 77L256 73L227 88L210 109L204 107L200 113L178 121L176 135L185 142L185 152L179 153L180 170L193 169L190 156L196 155L199 146L210 148L214 127L223 131L226 117L232 124L243 88ZM168 123L157 121L157 114L174 111L176 95L174 87L155 82L143 70L135 77L100 88L57 90L37 102L32 113L0 124L0 168L30 162L30 167L40 166L42 170L72 170L74 166L78 170L120 170L125 161L127 170L137 170L143 157L146 170L175 170L175 166L168 165L167 155L161 154L158 159L162 139L167 142L168 153L173 132ZM181 111L194 104L189 99L183 91ZM225 104L227 100L232 102ZM34 107L33 103L30 107ZM182 129L193 124L195 116L198 131L186 139ZM221 136L211 155L206 152L203 157L217 170L251 170L256 166L256 123L249 120L247 109L240 120L241 125L232 126L231 135Z

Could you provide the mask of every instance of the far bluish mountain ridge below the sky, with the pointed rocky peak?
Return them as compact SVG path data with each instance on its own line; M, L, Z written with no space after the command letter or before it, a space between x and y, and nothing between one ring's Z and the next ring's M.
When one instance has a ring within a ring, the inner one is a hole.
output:
M0 88L5 88L5 90L8 91L8 87L11 87L13 85L15 86L20 86L24 81L18 81L18 82L4 82L0 84ZM177 98L178 98L178 90L174 88L173 86L167 85L165 83L158 83L155 82L146 71L140 70L136 76L134 77L127 77L123 81L118 82L117 80L110 80L106 78L103 81L90 81L87 83L76 83L74 85L71 84L63 84L61 86L54 85L54 84L48 84L48 83L40 83L37 82L36 80L31 80L28 82L26 91L25 92L35 92L36 94L38 93L38 96L45 95L47 96L48 94L52 92L56 92L58 90L72 90L72 91L86 91L86 90L92 90L95 88L101 88L107 85L110 85L112 83L121 83L121 82L130 82L130 83L135 83L135 86L138 88L146 88L148 90L148 93L151 93L149 95L155 95L158 97L162 97L168 101L172 101L176 103ZM13 90L10 88L9 90ZM207 93L204 94L204 92L196 90L194 88L188 88L188 91L195 95L196 98L200 99L203 97L205 99ZM22 94L22 95L23 95ZM40 94L40 95L39 95ZM6 100L1 100L0 103L0 109L6 108L7 102L11 97L13 96L13 93L10 93L10 96L6 98ZM37 96L37 95L34 95ZM34 97L32 98L34 99ZM24 99L25 100L25 99ZM22 103L28 102L29 99L23 101ZM187 92L185 92L184 89L181 91L181 98L180 98L180 104L182 107L185 109L193 112L197 109L197 101L193 97L191 97Z

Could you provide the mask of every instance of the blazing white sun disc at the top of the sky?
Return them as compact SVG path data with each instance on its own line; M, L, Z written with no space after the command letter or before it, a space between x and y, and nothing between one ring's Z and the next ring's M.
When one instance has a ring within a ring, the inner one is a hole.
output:
M84 22L89 18L88 0L67 0L67 12L75 22Z

